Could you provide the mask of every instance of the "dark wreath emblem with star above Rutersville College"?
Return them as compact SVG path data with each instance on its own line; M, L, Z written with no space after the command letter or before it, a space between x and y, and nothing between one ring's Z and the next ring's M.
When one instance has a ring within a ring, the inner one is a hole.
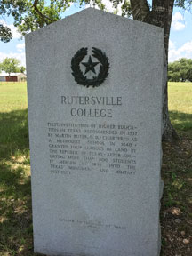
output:
M72 75L75 78L77 84L84 85L86 87L92 86L97 87L102 84L108 76L108 57L100 49L92 47L92 56L89 56L87 62L83 62L84 57L87 55L87 48L81 48L76 52L71 60ZM98 62L92 61L92 57L98 60ZM81 70L81 66L85 67L85 71ZM99 73L96 74L95 67L100 64ZM91 79L85 76L87 73L92 73ZM95 76L94 76L95 75Z

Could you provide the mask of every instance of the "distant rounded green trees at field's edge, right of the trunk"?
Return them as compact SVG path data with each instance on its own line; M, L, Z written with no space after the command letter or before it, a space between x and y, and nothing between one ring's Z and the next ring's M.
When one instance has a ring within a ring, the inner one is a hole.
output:
M168 66L168 79L172 82L192 82L192 60L182 58Z

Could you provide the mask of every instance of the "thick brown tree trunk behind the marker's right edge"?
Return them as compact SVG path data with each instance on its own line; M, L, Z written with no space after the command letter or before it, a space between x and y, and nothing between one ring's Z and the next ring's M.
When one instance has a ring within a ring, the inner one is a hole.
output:
M147 0L131 0L130 3L134 20L164 28L163 140L174 140L178 135L170 122L167 96L168 47L174 0L153 0L152 10L149 10Z

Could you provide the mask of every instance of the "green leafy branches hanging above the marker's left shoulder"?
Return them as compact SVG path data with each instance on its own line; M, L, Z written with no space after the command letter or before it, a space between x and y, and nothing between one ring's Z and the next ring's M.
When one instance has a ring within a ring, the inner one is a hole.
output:
M0 16L12 15L14 26L21 35L43 28L50 23L60 20L61 14L70 6L71 0L0 0ZM10 28L0 24L1 41L9 42L12 39Z

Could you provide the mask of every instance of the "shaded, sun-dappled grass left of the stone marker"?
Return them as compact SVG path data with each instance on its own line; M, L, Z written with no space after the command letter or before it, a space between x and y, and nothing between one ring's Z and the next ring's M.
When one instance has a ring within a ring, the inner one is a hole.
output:
M0 113L0 255L35 255L28 145L28 109Z

